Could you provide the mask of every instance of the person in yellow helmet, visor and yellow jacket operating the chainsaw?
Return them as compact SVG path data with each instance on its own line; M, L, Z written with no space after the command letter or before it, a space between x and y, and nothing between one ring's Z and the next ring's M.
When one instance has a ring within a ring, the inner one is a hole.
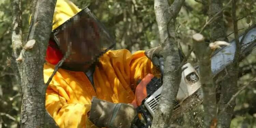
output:
M128 128L136 110L130 103L139 79L157 75L153 49L131 54L110 50L114 41L88 8L57 0L53 36L44 64L44 81L66 57L46 90L46 110L60 128ZM156 52L157 51L157 52Z

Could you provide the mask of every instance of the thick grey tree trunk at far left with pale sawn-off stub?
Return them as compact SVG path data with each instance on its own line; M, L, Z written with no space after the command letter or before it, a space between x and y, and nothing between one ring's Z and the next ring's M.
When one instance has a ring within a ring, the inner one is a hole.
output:
M16 3L19 0L14 0ZM15 3L14 2L14 3ZM56 0L34 0L32 3L32 17L30 21L27 43L20 47L22 33L13 31L12 67L18 71L22 89L22 107L20 115L20 127L22 128L52 128L56 123L45 110L46 86L43 79L43 64L49 35L52 31L53 13ZM16 5L16 4L15 4ZM18 8L13 7L13 8ZM20 9L19 9L20 10ZM14 10L14 19L18 15ZM15 21L15 24L20 24ZM15 26L14 26L15 27ZM15 34L16 33L16 34ZM15 49L20 49L17 51ZM17 55L17 56L16 56Z

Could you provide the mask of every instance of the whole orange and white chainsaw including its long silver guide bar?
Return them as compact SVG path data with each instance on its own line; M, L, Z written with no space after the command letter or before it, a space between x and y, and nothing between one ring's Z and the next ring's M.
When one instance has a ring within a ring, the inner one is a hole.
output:
M252 28L245 35L242 34L239 40L243 45L241 47L242 55L248 55L256 46L256 28ZM230 45L222 47L215 51L211 58L211 70L214 76L225 69L234 59L236 50L235 41L231 41ZM242 59L242 58L240 58ZM136 87L136 98L131 103L139 114L132 128L149 128L154 118L154 112L159 104L162 83L163 83L163 58L159 58L161 78L147 74L138 82ZM198 66L193 67L190 63L186 63L182 69L181 83L177 93L174 110L179 108L180 104L193 95L200 87L199 75L197 73Z

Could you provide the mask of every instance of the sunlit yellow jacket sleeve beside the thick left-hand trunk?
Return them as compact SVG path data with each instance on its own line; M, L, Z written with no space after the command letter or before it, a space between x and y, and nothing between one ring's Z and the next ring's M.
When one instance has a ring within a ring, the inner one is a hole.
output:
M44 81L51 76L52 69L44 69ZM63 79L57 72L46 90L45 108L60 128L94 128L87 117L90 103L81 103L72 99L72 90L60 81Z

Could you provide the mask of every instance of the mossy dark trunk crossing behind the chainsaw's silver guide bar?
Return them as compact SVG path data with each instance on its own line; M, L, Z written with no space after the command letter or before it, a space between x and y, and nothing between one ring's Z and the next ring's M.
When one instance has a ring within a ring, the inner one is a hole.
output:
M211 32L211 42L214 41L226 41L228 42L227 36L226 36L226 28L224 25L223 20L223 6L221 0L209 0L209 18L211 19L214 16L217 16L218 18L215 18L215 20L212 20L210 23L210 32ZM217 15L218 14L218 15ZM237 77L233 74L233 65L230 65L229 67L226 67L224 71L222 71L219 75L221 79L216 79L217 83L217 93L219 97L219 109L222 109L223 106L226 104L226 101L230 99L230 97L233 95ZM221 77L224 76L224 77ZM225 79L224 79L225 78ZM218 81L221 82L218 82ZM214 90L215 91L215 90ZM233 114L234 105L230 106L228 111L222 114L218 114L218 126L221 128L227 128L230 126L232 114Z

